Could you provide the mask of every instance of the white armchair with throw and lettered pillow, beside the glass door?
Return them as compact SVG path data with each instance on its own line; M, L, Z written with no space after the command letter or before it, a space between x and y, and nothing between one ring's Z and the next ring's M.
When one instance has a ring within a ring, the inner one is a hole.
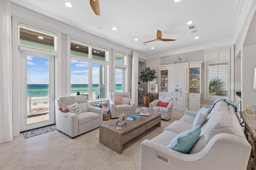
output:
M69 97L64 96L62 98ZM70 138L77 137L83 133L100 127L102 124L102 108L92 107L88 103L87 96L74 96L75 102L82 113L64 113L59 108L62 104L62 99L55 100L56 127L58 131L65 133Z

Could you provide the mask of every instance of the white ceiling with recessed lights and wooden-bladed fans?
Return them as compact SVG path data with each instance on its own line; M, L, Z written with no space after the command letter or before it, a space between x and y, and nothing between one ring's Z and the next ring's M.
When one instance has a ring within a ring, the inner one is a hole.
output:
M244 13L241 0L99 0L100 16L92 11L90 0L11 2L135 49L144 57L210 47L216 43L232 44L236 40L238 15ZM65 2L70 2L73 7L66 7ZM187 25L188 21L193 23ZM188 28L191 25L196 26L196 33L190 33L194 30ZM113 31L112 27L117 30ZM156 39L158 29L162 31L162 38L177 40L143 45L145 41ZM199 39L194 39L196 36ZM134 41L135 38L139 40Z

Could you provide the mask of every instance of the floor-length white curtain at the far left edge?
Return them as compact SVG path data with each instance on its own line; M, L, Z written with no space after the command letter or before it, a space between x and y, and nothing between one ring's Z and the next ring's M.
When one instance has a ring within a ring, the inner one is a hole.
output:
M12 140L11 3L0 0L0 143Z

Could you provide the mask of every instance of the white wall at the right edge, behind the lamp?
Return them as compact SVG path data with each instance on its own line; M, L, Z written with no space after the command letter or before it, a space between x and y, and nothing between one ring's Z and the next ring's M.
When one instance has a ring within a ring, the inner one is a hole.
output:
M242 110L246 105L256 104L256 89L253 89L254 68L256 67L256 45L246 46L241 51L242 61Z

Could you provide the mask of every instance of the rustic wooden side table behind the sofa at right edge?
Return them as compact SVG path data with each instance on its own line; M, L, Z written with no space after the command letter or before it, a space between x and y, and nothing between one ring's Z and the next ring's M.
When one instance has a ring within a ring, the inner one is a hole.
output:
M240 111L240 115L244 120L240 125L243 126L242 124L244 123L244 135L250 145L252 145L247 170L256 170L256 118L247 117L244 111Z

